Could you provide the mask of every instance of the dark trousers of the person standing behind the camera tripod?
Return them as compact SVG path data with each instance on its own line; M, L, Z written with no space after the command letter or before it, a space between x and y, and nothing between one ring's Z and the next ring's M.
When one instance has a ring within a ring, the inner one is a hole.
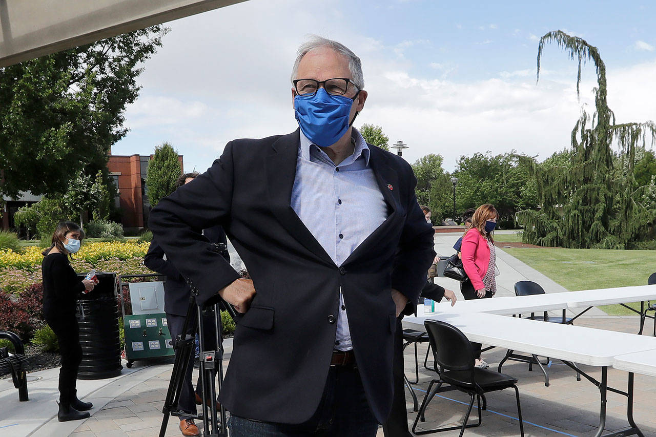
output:
M167 323L169 325L169 332L171 333L171 339L175 341L176 337L182 333L182 327L184 326L184 316L177 316L176 314L166 314ZM194 316L195 317L195 316ZM189 331L191 335L194 335ZM216 335L214 329L214 315L203 315L203 349L204 350L216 350ZM178 357L180 353L179 349L176 349L175 356ZM192 371L194 371L194 350L189 358L189 365L187 366L187 373L184 375L184 383L182 383L182 390L180 390L180 400L178 400L178 409L184 411L185 413L196 414L196 397L195 393L198 396L203 396L203 387L201 386L201 379L199 378L196 383L196 389L194 391L194 385L192 384ZM216 375L216 371L214 372ZM211 402L211 400L208 400Z

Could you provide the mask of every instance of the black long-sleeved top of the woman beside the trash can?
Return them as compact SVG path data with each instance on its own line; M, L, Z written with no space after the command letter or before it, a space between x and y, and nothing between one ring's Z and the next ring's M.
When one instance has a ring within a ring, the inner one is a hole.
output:
M60 316L75 314L75 302L78 293L85 287L68 257L63 253L49 253L41 262L43 274L43 314Z

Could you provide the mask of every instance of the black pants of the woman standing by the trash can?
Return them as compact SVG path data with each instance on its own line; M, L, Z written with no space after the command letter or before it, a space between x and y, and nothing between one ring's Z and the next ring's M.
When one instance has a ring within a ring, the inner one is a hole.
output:
M50 314L46 322L57 336L62 368L59 369L59 402L70 404L76 396L77 369L82 361L79 326L75 314Z

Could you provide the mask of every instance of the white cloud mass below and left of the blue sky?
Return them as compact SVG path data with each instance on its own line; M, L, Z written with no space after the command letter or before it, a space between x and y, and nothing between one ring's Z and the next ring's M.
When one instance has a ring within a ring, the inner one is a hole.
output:
M139 100L127 108L132 131L113 152L147 154L170 140L184 154L186 169L204 170L234 138L293 131L289 75L308 33L338 39L360 56L369 98L355 124L380 125L390 141L406 142L408 161L440 153L445 168L453 169L461 155L512 148L544 158L569 144L581 104L592 103L589 68L581 102L575 65L569 63L563 72L543 70L538 85L531 68L462 81L449 74L458 64L441 54L398 56L409 47L430 47L426 39L380 41L357 33L358 26L338 18L334 5L316 3L312 13L304 5L304 0L249 1L171 23L173 30L139 78L144 87ZM326 24L318 25L316 16ZM609 67L607 74L618 123L654 117L656 61Z

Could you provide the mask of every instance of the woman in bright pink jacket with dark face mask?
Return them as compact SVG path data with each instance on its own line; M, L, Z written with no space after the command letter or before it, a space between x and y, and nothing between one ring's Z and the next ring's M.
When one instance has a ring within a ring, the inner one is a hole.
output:
M497 226L499 213L493 205L486 203L476 209L472 224L462 238L462 266L469 280L461 282L460 291L464 299L493 297L497 293L495 280L495 246L492 237ZM481 360L480 343L472 343L476 352L476 365L489 367Z

